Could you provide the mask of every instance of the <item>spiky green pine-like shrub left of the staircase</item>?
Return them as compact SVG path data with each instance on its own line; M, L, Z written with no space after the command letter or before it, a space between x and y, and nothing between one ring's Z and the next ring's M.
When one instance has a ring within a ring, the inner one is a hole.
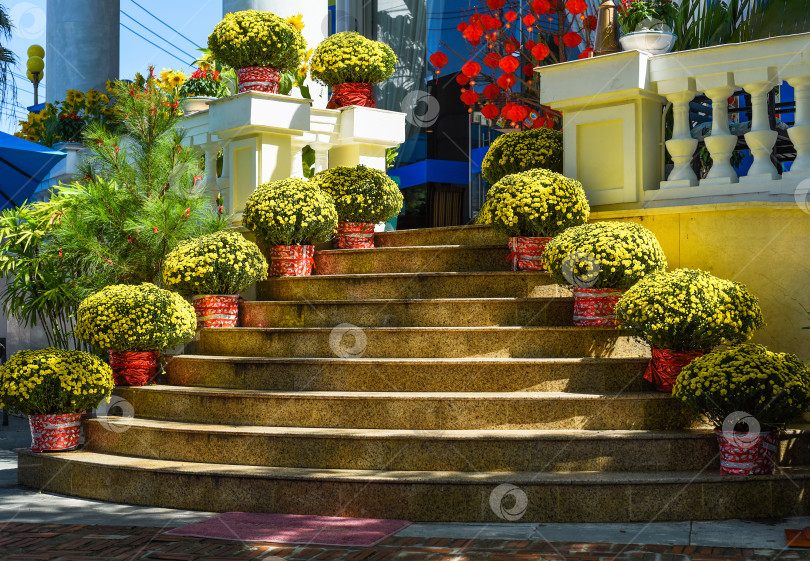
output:
M125 134L91 125L85 178L54 190L45 208L54 244L89 289L158 282L166 255L187 238L227 225L199 185L199 157L183 147L176 104L156 80L115 85Z

